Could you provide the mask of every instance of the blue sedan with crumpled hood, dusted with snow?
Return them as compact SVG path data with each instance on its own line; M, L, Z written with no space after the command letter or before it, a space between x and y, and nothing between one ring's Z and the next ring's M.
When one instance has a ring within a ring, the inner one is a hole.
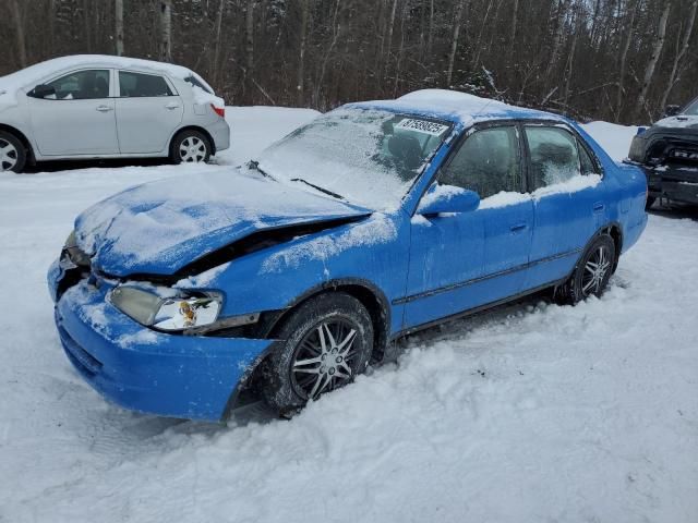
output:
M647 222L641 171L576 123L424 90L350 104L234 172L83 212L48 280L68 358L136 411L281 415L409 332L549 289L599 296Z

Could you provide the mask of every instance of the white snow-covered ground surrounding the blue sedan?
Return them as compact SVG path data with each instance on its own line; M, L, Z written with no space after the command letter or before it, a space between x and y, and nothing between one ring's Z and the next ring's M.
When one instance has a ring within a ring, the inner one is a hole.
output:
M111 406L72 370L45 272L74 216L254 156L312 111L228 109L219 166L0 174L0 522L698 521L698 222L650 217L609 292L407 340L292 421ZM622 158L634 130L588 130Z

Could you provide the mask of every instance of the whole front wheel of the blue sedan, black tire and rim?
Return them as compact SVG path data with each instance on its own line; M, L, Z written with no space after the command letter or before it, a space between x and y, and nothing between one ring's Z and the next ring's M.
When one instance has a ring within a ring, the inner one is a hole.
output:
M365 370L373 350L373 323L359 300L328 292L292 312L275 338L282 341L263 363L262 396L279 415L290 416L311 398L342 387Z

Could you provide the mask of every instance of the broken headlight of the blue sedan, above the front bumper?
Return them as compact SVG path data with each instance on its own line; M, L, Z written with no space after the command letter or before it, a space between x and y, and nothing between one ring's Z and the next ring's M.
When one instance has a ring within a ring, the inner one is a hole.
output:
M181 293L163 297L136 287L117 287L111 304L146 327L181 331L210 325L218 319L221 296L216 293Z

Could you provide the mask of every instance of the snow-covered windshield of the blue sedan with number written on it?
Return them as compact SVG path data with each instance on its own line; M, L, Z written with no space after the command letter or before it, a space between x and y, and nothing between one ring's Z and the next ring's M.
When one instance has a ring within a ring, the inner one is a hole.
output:
M396 208L450 124L394 112L337 109L269 148L258 168L373 209Z

